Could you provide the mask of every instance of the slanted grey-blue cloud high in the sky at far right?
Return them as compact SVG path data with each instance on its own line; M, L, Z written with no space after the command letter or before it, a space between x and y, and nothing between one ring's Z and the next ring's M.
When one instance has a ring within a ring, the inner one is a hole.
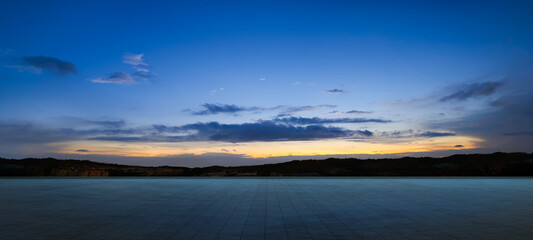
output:
M504 81L465 84L457 87L451 94L442 97L440 101L464 101L470 98L489 96L501 87L503 83Z

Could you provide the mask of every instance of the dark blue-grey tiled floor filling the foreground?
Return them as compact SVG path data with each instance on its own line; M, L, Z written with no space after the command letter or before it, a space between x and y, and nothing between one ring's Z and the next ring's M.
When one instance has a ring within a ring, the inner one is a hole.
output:
M0 239L531 239L533 178L2 178Z

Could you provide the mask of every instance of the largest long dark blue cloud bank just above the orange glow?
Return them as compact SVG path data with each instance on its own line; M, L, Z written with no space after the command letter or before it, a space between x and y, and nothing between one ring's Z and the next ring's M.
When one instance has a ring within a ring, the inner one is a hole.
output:
M89 140L119 142L271 142L312 141L331 138L366 138L373 135L368 130L348 130L322 125L294 126L275 121L259 121L242 124L219 122L193 123L182 126L153 125L153 131L134 131L132 134L100 134Z

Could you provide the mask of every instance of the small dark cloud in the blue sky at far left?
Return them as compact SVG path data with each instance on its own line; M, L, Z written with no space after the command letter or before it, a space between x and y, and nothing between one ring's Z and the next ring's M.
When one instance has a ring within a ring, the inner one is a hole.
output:
M57 75L76 73L76 65L53 57L23 57L22 62L26 67L31 67L39 71L49 71Z

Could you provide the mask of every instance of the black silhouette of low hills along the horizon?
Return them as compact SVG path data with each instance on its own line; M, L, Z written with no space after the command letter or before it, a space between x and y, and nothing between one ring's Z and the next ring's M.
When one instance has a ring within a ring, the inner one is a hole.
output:
M53 158L0 158L0 176L533 176L533 154L329 158L241 167L141 167Z

